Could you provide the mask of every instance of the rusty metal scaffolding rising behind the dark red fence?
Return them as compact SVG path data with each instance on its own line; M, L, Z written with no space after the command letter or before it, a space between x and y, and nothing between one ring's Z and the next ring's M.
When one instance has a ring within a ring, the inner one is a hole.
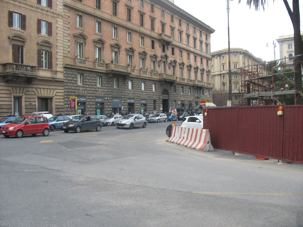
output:
M295 61L294 57L234 69L241 75L239 105L282 104L281 100L287 94L293 94L296 100L295 71L287 67L295 69L296 64L303 62Z

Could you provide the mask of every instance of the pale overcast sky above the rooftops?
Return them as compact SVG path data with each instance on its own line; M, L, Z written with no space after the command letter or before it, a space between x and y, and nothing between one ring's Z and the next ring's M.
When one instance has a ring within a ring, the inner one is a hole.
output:
M228 48L227 0L174 0L175 5L216 30L211 34L211 51ZM268 2L268 1L266 1ZM292 8L292 0L288 0ZM303 31L303 0L299 0L301 32ZM230 1L229 34L230 47L248 50L263 61L274 60L273 41L281 35L294 33L291 20L282 0L269 0L268 6L255 11L246 5L246 0ZM266 47L268 44L268 47ZM280 58L276 44L275 59Z

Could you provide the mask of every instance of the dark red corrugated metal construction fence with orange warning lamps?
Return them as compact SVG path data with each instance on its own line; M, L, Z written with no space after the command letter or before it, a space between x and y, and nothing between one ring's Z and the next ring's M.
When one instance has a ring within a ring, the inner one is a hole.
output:
M278 107L208 108L203 128L214 148L303 164L303 105Z

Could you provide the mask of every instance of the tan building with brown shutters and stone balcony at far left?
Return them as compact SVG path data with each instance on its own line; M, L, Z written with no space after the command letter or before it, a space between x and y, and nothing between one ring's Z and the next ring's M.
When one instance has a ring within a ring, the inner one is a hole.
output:
M1 0L0 8L0 116L62 112L62 1Z

